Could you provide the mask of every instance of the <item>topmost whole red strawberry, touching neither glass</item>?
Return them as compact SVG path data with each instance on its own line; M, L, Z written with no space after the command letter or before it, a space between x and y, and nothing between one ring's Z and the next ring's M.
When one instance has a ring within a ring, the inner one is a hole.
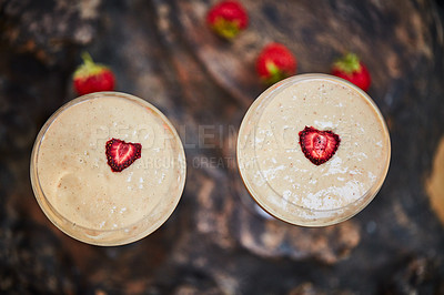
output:
M249 26L249 16L241 3L228 0L209 10L206 22L220 37L230 40Z

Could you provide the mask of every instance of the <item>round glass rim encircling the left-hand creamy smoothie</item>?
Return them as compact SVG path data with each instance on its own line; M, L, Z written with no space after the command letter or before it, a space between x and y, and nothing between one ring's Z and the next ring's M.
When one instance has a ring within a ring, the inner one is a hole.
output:
M52 125L52 123L59 118L59 115L61 113L63 113L64 111L67 111L69 108L77 105L79 103L82 103L84 101L89 101L89 100L94 100L94 99L99 99L99 98L103 98L103 96L112 96L112 98L121 98L121 99L125 99L132 102L135 102L142 106L148 106L152 113L157 116L159 116L161 119L161 121L168 125L168 128L170 129L170 131L173 134L173 139L175 142L175 148L178 148L178 156L179 156L179 167L180 167L180 175L181 175L181 181L179 183L178 187L178 196L172 197L171 200L174 200L174 202L172 203L173 205L170 207L170 210L167 212L167 214L163 215L162 218L158 220L155 223L151 224L151 226L148 226L148 230L144 230L142 232L138 232L138 234L135 234L134 236L131 236L130 238L122 238L121 242L113 242L113 243L100 243L100 238L99 240L94 240L94 238L84 238L84 237L80 237L79 235L73 234L71 231L67 230L67 226L63 226L63 224L68 224L69 226L75 228L75 232L97 232L99 234L112 234L112 233L119 233L119 232L125 232L129 228L132 228L141 223L143 223L149 215L144 215L142 218L140 218L139 221L135 221L129 225L125 225L123 227L118 227L118 228L90 228L83 225L78 225L75 222L71 221L70 218L68 218L67 216L63 216L53 205L52 203L48 200L47 195L44 194L41 183L40 183L40 179L39 179L39 173L38 173L38 155L40 152L40 146L42 141L44 140L44 135L48 132L48 130L50 129L50 126ZM79 98L72 99L68 102L65 102L64 104L62 104L58 110L54 111L54 113L49 116L49 119L46 121L46 123L41 126L33 148L32 148L32 152L31 152L31 161L30 161L30 179L31 179L31 186L32 186L32 191L34 193L34 196L39 203L39 206L41 207L41 210L43 211L44 215L47 215L47 217L51 221L51 223L53 223L60 231L62 231L63 233L65 233L67 235L79 240L81 242L88 243L88 244L93 244L93 245L101 245L101 246L113 246L113 245L123 245L123 244L129 244L135 241L139 241L141 238L143 238L144 236L150 235L151 233L153 233L154 231L157 231L163 223L167 222L167 220L172 215L172 213L174 212L175 207L178 206L181 196L183 194L183 190L185 186L185 180L186 180L186 160L185 160L185 153L184 153L184 149L183 149L183 144L182 141L175 130L175 128L173 126L173 124L170 122L170 120L158 109L155 108L153 104L151 104L150 102L138 98L135 95L129 94L129 93L123 93L123 92L118 92L118 91L103 91L103 92L94 92L94 93L89 93L89 94L84 94L81 95ZM44 204L43 204L44 202ZM48 206L48 208L46 207ZM54 214L63 224L61 224L61 222L59 222L57 218L54 218L51 214Z

